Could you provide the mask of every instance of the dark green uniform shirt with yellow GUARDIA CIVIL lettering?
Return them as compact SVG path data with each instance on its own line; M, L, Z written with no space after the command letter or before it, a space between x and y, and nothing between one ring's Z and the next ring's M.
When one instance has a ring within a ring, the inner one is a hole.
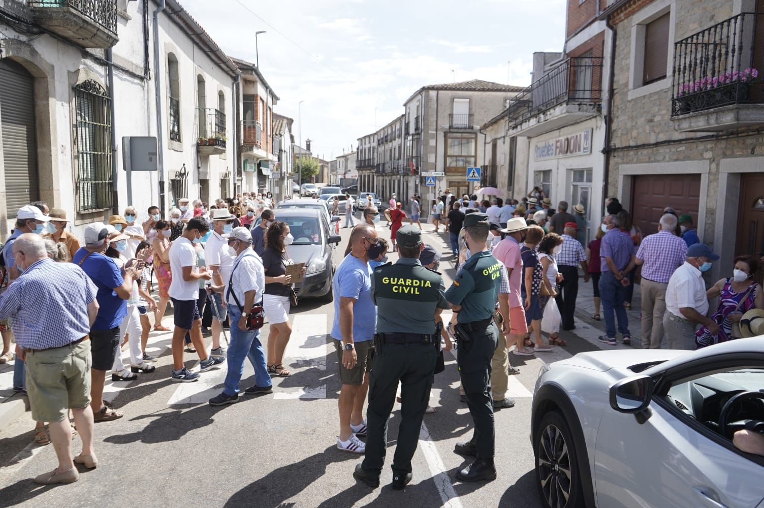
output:
M440 273L418 259L402 257L383 264L371 277L377 304L377 333L435 333L435 309L448 309Z

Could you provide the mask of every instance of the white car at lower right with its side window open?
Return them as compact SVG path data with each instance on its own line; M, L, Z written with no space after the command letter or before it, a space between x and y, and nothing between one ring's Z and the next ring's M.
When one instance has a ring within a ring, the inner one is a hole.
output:
M764 336L545 365L531 439L542 506L764 507Z

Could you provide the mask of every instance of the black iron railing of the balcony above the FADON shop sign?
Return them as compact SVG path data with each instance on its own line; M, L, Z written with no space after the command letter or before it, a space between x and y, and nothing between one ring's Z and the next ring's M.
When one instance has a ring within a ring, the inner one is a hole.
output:
M601 83L601 57L570 57L510 101L510 128L557 105L596 104L602 98Z

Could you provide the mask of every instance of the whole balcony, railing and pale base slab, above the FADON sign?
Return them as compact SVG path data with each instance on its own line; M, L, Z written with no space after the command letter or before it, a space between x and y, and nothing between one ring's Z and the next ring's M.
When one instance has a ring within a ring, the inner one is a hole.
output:
M570 57L510 100L509 128L542 134L591 117L601 99L602 58Z

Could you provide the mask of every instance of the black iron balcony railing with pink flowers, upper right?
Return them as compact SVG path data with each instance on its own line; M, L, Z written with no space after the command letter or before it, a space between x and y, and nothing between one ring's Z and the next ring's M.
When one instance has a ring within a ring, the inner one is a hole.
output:
M762 22L761 14L743 12L674 44L672 116L764 102L764 54L756 47Z

